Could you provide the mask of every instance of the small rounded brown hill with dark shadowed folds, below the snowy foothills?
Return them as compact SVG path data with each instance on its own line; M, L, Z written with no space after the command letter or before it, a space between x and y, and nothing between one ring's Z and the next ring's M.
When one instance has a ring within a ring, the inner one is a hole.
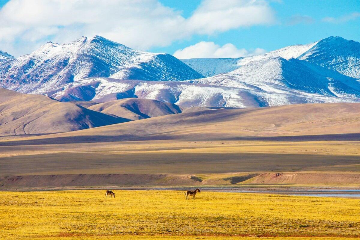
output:
M131 120L181 113L179 106L175 104L139 98L125 98L99 103L88 108Z

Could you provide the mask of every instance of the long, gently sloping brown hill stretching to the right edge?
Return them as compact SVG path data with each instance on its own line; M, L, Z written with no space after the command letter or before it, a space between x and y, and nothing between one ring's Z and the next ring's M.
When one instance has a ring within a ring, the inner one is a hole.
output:
M353 133L360 133L360 103L318 103L186 112L36 139L61 138L67 141L66 139L71 138L71 141L75 142L241 138L287 140L290 136L302 136L291 137L301 140L311 138L306 136ZM293 140L291 138L290 140ZM318 140L327 140L326 138Z

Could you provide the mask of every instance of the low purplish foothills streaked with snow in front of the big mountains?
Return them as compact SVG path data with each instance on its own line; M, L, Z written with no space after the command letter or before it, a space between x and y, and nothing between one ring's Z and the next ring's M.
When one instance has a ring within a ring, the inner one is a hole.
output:
M91 93L91 94L90 94ZM135 81L87 78L63 86L51 97L59 101L86 100L108 102L122 98L153 99L183 107L259 107L262 98L240 88L188 82Z

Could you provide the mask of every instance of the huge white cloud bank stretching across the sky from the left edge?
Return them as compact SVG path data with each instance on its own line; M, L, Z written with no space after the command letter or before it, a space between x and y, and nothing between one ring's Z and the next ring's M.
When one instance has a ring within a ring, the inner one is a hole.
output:
M10 0L0 9L0 49L19 55L45 41L98 34L146 50L193 34L273 22L262 0L203 0L189 18L157 0Z

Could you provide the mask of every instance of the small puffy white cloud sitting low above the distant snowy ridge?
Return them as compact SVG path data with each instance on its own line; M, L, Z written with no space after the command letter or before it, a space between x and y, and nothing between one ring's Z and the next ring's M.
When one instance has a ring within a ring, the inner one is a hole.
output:
M214 42L198 42L195 45L179 49L174 52L174 56L179 59L196 58L196 57L244 57L251 55L263 54L264 49L257 48L253 51L246 49L238 49L231 43L226 43L223 46L217 45Z

